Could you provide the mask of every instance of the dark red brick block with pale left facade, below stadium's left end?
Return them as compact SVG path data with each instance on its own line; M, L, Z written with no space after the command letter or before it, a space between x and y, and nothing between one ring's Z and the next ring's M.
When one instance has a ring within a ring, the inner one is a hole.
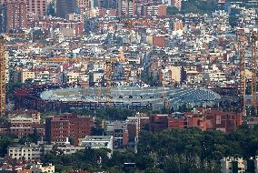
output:
M79 138L91 135L92 127L94 127L93 117L75 117L72 114L47 117L45 138L48 142L65 142L66 137L73 137L74 145L78 145Z

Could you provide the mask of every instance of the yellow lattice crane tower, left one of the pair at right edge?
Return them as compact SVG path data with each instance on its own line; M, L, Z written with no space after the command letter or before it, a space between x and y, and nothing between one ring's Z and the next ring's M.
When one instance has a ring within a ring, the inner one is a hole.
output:
M245 36L243 33L239 36L239 56L240 56L240 82L239 90L241 97L241 106L243 107L243 116L246 116L245 107L245 89L246 89L246 76L245 76Z

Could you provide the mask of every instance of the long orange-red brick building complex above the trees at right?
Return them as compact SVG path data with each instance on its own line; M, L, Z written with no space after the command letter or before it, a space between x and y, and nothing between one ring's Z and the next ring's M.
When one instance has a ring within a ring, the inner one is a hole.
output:
M158 131L165 128L197 127L201 130L235 131L242 125L242 114L223 112L217 108L194 110L182 115L154 115L150 117L150 130Z

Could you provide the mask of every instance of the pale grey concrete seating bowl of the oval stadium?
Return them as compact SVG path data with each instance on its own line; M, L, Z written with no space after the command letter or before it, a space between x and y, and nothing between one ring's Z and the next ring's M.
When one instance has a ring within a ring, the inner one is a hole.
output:
M111 92L112 102L129 104L135 103L137 106L147 105L151 103L154 108L164 106L163 96L167 97L174 108L182 103L195 103L203 100L215 101L220 99L220 96L211 90L190 88L190 87L112 87L110 90L103 87L103 100L106 100ZM80 93L76 96L75 93ZM57 97L58 96L58 97ZM184 97L183 97L184 96ZM82 101L82 102L97 102L98 88L72 88L72 89L55 89L48 90L41 94L44 100L63 100L63 101Z

